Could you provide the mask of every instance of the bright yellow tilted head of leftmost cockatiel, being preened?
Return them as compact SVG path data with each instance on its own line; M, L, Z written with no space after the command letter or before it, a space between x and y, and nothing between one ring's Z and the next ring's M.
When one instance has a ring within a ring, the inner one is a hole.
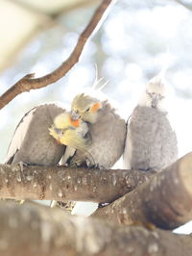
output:
M49 128L49 134L60 144L84 150L87 147L87 138L84 136L88 127L80 118L73 120L69 113L58 115L54 124Z

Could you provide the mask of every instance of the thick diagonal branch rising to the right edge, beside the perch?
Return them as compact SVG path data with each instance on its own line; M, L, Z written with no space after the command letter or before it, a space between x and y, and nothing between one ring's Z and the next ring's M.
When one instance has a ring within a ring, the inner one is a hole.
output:
M192 153L93 216L173 229L192 219Z

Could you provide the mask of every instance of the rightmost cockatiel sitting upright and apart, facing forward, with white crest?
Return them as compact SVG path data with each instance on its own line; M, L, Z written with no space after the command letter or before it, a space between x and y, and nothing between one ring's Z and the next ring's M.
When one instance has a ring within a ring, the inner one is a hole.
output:
M127 127L124 168L161 170L178 159L178 143L165 110L166 90L157 75L147 84Z

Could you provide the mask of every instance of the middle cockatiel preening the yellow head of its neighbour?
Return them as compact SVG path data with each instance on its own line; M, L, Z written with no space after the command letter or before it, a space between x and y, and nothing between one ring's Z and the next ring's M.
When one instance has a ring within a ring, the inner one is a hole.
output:
M101 96L97 96L99 93ZM126 122L104 98L103 93L94 90L78 94L72 102L71 116L74 120L81 118L87 123L91 138L87 147L89 155L77 150L72 162L77 166L113 166L123 154Z

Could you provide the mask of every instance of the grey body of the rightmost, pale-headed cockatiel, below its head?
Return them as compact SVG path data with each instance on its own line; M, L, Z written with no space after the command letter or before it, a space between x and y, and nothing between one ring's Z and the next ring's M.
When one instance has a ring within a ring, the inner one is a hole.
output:
M160 170L177 159L177 137L167 113L137 106L128 124L124 167Z

